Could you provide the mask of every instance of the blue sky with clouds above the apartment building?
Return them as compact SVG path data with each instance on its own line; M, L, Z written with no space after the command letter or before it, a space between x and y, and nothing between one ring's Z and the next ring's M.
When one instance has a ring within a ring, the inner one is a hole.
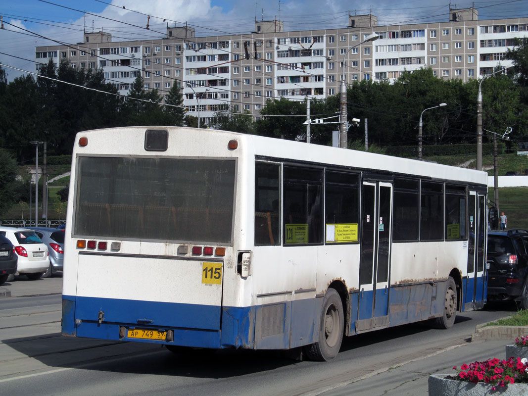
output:
M447 22L449 2L430 0L2 0L0 63L35 70L35 46L82 42L83 31L112 34L112 41L159 39L169 26L187 23L196 36L243 34L254 21L280 19L285 31L335 29L348 14L372 13L378 25ZM528 17L528 0L461 1L474 4L479 20ZM148 19L148 16L150 18ZM146 25L149 30L146 30ZM18 57L18 58L16 58ZM25 73L6 68L8 81Z

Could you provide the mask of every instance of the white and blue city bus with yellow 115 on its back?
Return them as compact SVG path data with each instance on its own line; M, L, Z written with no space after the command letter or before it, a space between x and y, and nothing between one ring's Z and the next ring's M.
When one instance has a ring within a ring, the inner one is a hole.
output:
M77 134L62 334L306 347L486 299L484 172L186 127Z

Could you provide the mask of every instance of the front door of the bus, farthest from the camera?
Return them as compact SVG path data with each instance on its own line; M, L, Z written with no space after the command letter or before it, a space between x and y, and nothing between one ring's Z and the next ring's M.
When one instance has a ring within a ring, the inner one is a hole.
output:
M469 192L467 284L464 303L467 308L482 307L484 303L484 236L486 230L485 196Z

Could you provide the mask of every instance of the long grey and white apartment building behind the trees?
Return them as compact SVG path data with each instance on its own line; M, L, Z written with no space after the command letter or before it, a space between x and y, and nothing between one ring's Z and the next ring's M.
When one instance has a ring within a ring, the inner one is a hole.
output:
M270 98L336 95L343 76L347 83L392 82L430 67L438 78L478 78L510 65L508 48L515 37L528 36L528 18L479 21L468 8L451 10L449 19L378 26L374 15L350 15L342 29L292 32L277 20L256 21L248 34L206 37L177 26L160 39L119 42L108 33L85 33L82 43L36 47L36 69L49 58L67 59L73 68L102 68L122 95L137 76L161 95L178 84L187 110L203 125L223 105L258 118ZM374 33L377 40L363 43Z

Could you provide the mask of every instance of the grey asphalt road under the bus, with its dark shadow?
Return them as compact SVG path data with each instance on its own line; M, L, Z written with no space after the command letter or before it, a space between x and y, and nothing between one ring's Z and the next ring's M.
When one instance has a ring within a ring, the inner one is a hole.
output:
M504 357L507 342L468 338L477 324L515 310L495 304L459 314L447 331L418 324L348 337L325 363L275 351L182 355L146 343L62 337L60 280L6 286L13 297L0 299L0 394L423 395L431 373Z

